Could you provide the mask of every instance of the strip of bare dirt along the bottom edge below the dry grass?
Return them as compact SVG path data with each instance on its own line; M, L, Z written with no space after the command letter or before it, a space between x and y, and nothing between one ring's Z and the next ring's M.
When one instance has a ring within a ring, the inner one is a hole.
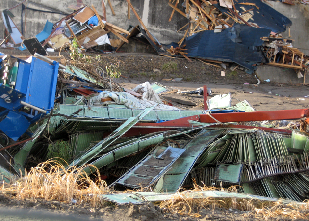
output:
M302 221L285 217L265 219L255 212L243 212L237 209L202 209L200 217L185 216L166 212L153 203L144 205L115 205L106 203L102 208L89 205L75 205L42 199L16 200L0 195L0 221ZM197 212L197 211L195 211ZM308 216L308 211L303 211Z

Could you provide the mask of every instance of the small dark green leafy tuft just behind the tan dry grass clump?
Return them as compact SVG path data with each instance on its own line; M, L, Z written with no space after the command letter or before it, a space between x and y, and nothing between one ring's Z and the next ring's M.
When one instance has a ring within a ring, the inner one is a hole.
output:
M58 158L60 164L65 165L71 157L71 147L68 142L58 140L56 143L48 145L46 160Z

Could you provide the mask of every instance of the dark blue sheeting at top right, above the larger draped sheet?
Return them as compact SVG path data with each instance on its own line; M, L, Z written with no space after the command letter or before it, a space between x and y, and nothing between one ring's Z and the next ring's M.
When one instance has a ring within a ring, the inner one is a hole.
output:
M281 33L286 30L286 27L292 25L291 20L267 4L264 4L261 0L237 0L237 2L234 1L234 3L239 13L243 12L243 9L240 7L245 8L246 11L253 8L251 11L253 12L252 18L254 20L252 21L249 19L248 22L256 23L260 28L266 28L272 30L275 33ZM259 7L259 10L255 6L242 5L239 3L253 3ZM219 4L214 4L214 6L222 13L228 13L229 11L227 8L220 7Z

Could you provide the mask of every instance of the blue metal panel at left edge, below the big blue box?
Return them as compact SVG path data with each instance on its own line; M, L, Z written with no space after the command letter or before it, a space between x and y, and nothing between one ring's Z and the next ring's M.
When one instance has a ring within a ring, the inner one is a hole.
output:
M16 141L30 126L30 122L21 114L10 111L0 122L0 130Z

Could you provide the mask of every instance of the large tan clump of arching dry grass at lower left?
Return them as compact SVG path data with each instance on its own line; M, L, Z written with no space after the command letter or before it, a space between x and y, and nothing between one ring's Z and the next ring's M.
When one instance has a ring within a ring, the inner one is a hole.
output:
M42 198L66 203L88 203L100 207L98 195L107 194L107 184L100 179L97 168L97 179L94 182L81 168L68 167L56 161L47 161L32 168L21 179L9 186L3 186L2 192L10 193L18 199ZM1 190L0 190L1 192Z

